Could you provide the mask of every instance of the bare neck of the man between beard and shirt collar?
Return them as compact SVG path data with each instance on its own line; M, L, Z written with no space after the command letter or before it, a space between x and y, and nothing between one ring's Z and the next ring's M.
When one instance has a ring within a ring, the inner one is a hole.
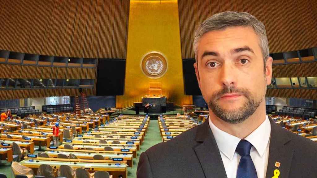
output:
M218 118L212 111L209 109L209 118L211 122L220 130L229 133L240 139L244 139L250 133L252 133L256 128L258 128L266 118L265 113L265 100L259 105L256 111L247 118L243 123L239 124L230 124L225 122L222 119Z

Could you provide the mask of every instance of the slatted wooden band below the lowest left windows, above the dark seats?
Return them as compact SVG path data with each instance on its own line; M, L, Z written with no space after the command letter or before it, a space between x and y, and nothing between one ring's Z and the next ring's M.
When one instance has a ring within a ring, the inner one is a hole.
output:
M87 96L95 95L93 88L83 88L83 91L87 94ZM80 92L78 88L0 90L0 98L2 100L79 95Z

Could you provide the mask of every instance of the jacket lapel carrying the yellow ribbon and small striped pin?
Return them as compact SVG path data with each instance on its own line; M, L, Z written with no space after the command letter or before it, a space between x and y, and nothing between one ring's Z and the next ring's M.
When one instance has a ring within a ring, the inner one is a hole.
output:
M278 169L280 175L278 177L289 177L290 167L292 165L294 146L291 144L290 134L285 129L275 124L270 118L271 138L268 155L268 167L266 177L274 176L274 170ZM276 167L275 163L279 162L280 167Z

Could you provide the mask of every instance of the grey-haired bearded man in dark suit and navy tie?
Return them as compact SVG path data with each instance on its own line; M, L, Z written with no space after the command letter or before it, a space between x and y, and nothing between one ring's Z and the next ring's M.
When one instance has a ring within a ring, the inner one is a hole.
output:
M266 116L273 59L264 24L249 13L215 14L193 48L210 117L143 152L137 177L316 177L317 144Z

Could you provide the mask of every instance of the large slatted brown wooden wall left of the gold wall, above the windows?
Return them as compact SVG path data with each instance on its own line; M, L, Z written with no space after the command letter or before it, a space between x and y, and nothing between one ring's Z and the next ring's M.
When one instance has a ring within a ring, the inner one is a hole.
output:
M126 59L129 0L2 0L0 49Z

